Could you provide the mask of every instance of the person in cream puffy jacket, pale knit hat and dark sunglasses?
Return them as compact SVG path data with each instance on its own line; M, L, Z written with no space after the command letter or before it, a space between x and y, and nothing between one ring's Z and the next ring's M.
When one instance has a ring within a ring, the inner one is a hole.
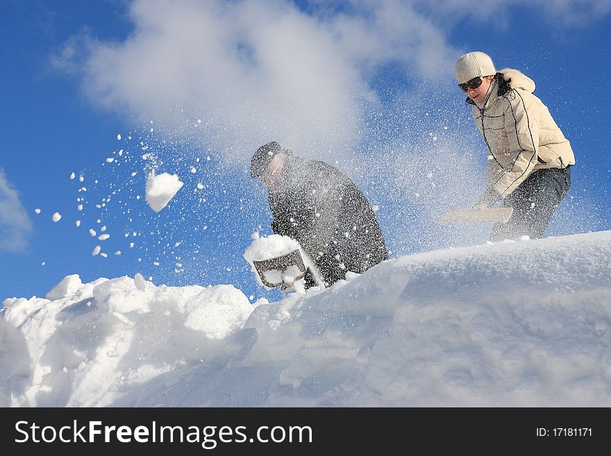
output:
M490 240L543 237L571 187L571 144L533 94L533 80L517 69L497 72L492 59L476 51L458 59L455 73L488 149L486 189L475 208L499 200L513 208Z

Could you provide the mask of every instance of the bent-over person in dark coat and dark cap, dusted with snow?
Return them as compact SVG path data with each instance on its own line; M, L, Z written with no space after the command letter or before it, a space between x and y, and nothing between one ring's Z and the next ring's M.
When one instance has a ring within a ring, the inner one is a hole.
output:
M268 187L274 233L299 242L327 286L387 260L374 210L341 171L269 142L254 153L251 176ZM306 287L313 285L306 276Z

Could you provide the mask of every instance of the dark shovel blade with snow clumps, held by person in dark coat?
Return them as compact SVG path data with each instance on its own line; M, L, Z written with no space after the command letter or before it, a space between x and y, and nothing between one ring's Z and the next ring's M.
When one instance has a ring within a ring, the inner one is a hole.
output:
M255 260L253 264L263 285L269 288L279 287L282 292L294 289L296 282L308 272L299 250L269 260Z

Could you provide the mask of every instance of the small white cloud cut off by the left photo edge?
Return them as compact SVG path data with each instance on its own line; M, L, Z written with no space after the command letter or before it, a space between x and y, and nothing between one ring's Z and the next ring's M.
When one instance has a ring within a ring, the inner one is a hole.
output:
M32 223L19 194L0 169L0 250L22 251L31 232Z

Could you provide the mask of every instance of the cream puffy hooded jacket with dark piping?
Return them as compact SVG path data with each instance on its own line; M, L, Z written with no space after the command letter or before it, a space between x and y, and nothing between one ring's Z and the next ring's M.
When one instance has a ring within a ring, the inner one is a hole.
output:
M503 69L483 107L467 99L488 146L490 201L504 199L537 169L575 163L571 144L534 91L532 79L517 69Z

